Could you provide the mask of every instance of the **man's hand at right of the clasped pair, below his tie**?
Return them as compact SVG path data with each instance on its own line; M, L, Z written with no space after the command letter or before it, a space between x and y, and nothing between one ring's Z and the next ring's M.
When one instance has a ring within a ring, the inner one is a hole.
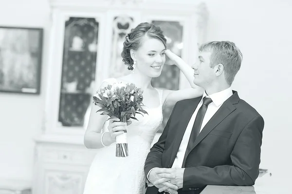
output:
M158 175L160 175L162 178L156 180L155 182L153 182L153 184L154 185L163 184L165 187L167 187L169 182L165 182L166 177L164 177L164 175L171 174L171 175L174 175L175 178L171 178L170 179L170 183L173 184L173 185L178 186L178 189L181 189L181 188L183 188L183 173L184 173L184 169L185 168L158 168L156 173ZM162 188L162 189L164 189L164 188Z

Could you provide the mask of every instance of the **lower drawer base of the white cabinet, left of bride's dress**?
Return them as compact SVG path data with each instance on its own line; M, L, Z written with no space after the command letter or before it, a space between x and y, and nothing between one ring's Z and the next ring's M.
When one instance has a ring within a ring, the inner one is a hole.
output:
M94 150L81 141L42 136L36 139L34 194L82 194Z

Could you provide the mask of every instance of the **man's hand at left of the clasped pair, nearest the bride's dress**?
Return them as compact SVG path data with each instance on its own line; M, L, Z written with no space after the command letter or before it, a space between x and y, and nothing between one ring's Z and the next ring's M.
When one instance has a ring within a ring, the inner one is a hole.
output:
M178 194L177 190L178 187L170 182L172 178L175 178L174 175L171 175L169 173L157 173L157 171L162 168L154 168L149 173L148 179L151 183L154 184L155 187L159 189L159 192L167 191L170 194ZM157 180L160 180L160 182L164 184L155 184Z

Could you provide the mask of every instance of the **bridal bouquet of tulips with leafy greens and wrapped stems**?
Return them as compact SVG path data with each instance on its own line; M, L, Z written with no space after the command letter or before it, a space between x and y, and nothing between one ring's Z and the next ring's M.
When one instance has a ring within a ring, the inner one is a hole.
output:
M147 112L143 110L143 91L137 88L135 84L114 83L105 88L101 88L93 95L93 103L101 109L102 115L108 115L111 118L119 118L121 122L127 122L135 118L136 113ZM143 115L143 114L142 114ZM116 137L116 157L128 156L127 131Z

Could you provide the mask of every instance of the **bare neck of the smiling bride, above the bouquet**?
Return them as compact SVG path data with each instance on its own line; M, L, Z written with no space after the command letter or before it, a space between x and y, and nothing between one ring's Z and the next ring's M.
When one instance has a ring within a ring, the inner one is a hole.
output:
M127 80L134 83L137 87L140 87L142 90L146 90L147 88L151 88L151 78L142 74L138 70L131 72L126 76Z

